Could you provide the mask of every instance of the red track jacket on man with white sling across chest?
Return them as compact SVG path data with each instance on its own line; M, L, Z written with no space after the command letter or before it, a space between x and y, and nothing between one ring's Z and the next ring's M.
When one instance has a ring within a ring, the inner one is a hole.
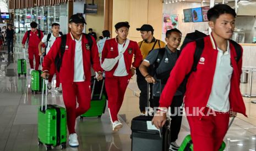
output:
M130 40L130 43L126 49L126 51L123 53L124 55L124 62L126 63L126 71L129 75L131 75L130 67L133 65L133 67L138 68L140 65L140 62L142 60L142 55L139 50L139 46L137 42L134 42ZM115 58L118 56L118 42L116 38L108 39L106 40L104 44L104 48L102 50L101 54L101 60L104 62L105 58ZM134 56L134 62L133 61ZM106 71L106 77L111 78L113 77L113 74L117 68L118 62L115 67L111 71Z

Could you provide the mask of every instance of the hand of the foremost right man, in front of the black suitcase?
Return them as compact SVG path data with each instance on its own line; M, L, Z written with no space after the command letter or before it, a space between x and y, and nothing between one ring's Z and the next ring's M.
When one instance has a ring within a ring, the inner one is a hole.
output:
M154 118L152 119L152 124L154 124L157 129L160 129L165 125L166 120L166 112L159 110L154 115Z

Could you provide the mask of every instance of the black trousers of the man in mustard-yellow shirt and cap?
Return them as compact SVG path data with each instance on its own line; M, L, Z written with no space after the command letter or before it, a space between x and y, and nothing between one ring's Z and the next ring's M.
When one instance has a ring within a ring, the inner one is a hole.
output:
M137 75L137 84L140 89L140 95L139 95L139 109L140 112L145 112L145 107L148 107L148 83L145 80L145 77L140 73L139 69L136 69L136 75ZM150 84L150 98L149 103L150 107L153 107L152 102L152 84Z

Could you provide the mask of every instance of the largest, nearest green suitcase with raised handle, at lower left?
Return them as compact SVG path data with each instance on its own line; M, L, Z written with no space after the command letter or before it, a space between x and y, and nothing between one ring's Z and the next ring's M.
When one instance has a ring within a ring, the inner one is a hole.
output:
M47 83L48 80L43 79L43 82ZM64 149L67 142L66 109L57 105L47 105L47 89L43 106L43 95L42 93L42 104L38 110L38 144L45 144L46 150L55 146Z

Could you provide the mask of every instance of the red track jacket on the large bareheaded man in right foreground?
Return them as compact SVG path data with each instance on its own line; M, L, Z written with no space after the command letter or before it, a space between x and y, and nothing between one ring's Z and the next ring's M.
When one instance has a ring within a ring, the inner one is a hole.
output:
M190 72L193 65L195 52L195 42L187 44L182 50L181 56L176 62L175 67L170 73L170 78L165 85L160 97L160 107L169 107L172 103L172 97L175 94L179 84L182 83L185 75ZM239 89L240 75L242 73L242 55L238 63L235 60L236 50L230 44L231 64L233 66L233 74L230 85L230 108L233 112L242 113L246 115L246 107L243 102L241 91ZM192 72L188 78L187 90L184 95L184 103L186 107L206 107L213 85L216 61L217 61L217 47L212 36L204 38L204 50L201 57L205 61L199 61L197 71Z

